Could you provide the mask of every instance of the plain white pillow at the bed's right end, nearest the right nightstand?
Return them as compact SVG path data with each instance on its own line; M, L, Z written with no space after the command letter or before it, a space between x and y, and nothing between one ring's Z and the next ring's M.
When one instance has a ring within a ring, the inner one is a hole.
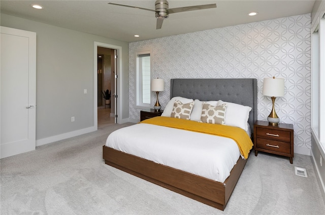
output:
M232 102L224 102L219 100L218 106L226 104L227 111L225 112L225 125L236 126L247 131L249 112L252 110L250 106L244 106Z

